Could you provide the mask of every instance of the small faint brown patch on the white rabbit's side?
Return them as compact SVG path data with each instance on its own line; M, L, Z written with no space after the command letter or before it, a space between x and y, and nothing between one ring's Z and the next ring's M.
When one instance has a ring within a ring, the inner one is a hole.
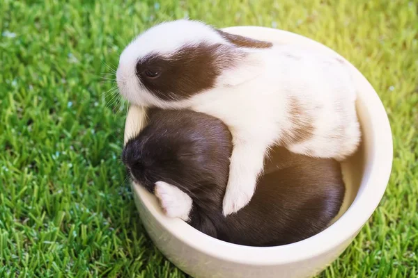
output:
M279 145L288 147L309 140L314 136L314 120L304 114L303 106L295 97L289 100L289 120L292 122L290 130L284 131Z

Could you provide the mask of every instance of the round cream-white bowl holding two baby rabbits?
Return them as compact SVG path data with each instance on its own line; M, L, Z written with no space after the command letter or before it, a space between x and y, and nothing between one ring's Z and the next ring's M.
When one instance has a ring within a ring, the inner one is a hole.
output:
M277 29L238 26L225 30L260 40L304 44L338 55L314 40ZM392 169L392 133L385 109L375 90L355 67L353 74L359 94L357 113L363 141L357 154L342 164L346 199L330 227L290 245L234 245L206 236L182 220L165 217L155 197L132 184L141 221L158 249L178 268L199 278L310 277L332 263L378 206ZM144 111L132 106L127 115L125 140L138 133L143 125Z

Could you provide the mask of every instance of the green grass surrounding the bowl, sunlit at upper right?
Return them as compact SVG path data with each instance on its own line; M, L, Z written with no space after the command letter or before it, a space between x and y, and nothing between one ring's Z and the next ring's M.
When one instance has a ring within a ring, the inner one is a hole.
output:
M185 276L141 226L119 160L126 104L107 82L135 34L185 16L300 33L369 79L392 124L392 177L320 276L418 275L417 0L101 2L0 1L0 277Z

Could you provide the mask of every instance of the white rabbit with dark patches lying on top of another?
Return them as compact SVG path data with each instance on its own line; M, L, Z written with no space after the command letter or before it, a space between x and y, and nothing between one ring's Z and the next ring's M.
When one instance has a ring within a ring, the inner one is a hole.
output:
M163 22L138 35L123 49L116 82L131 104L188 108L229 127L224 215L248 204L272 147L343 161L361 140L345 60L196 20Z

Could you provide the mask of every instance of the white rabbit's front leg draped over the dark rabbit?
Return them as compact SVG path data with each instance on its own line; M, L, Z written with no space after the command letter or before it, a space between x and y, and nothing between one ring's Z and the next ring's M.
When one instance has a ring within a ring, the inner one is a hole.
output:
M265 142L257 139L239 140L234 136L234 147L229 165L229 180L223 202L224 216L246 206L256 189L258 176L263 171Z

